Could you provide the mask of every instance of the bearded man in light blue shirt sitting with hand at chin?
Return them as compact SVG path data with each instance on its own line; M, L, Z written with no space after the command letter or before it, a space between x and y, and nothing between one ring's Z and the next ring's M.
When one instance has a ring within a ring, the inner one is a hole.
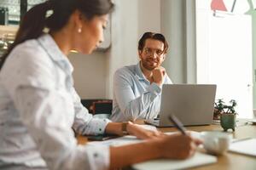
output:
M172 83L161 66L168 43L160 33L145 32L138 42L139 63L115 72L113 77L113 122L152 119L160 111L163 84Z

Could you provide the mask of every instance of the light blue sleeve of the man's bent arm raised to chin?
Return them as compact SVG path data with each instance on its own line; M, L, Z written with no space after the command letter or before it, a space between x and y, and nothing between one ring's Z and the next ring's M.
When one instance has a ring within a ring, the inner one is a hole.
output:
M113 93L122 114L133 121L138 116L147 115L148 107L160 95L161 88L153 82L141 96L136 97L132 90L131 76L119 70L114 74Z

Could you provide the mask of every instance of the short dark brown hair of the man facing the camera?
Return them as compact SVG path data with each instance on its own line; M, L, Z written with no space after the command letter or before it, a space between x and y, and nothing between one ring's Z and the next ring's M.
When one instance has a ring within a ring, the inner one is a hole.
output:
M138 42L138 50L142 51L144 46L145 46L145 42L147 39L154 39L154 40L159 40L160 42L164 43L164 54L167 53L167 50L169 48L168 46L168 42L166 41L166 38L160 34L160 33L154 33L154 32L145 32L143 34L143 37L141 37L141 39Z

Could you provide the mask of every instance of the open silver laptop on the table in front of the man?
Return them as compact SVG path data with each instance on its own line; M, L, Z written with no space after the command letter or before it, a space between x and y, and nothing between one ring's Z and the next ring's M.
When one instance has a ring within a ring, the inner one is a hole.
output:
M168 116L174 114L184 126L212 123L216 85L165 84L162 88L160 118L146 120L156 127L173 127Z

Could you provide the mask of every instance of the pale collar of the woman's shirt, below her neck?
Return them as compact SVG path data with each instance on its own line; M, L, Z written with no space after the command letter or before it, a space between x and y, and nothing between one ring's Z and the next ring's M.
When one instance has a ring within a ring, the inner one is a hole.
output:
M72 74L73 65L67 59L67 56L61 52L61 49L49 34L44 34L39 37L38 42L42 45L46 53L49 54L49 57L53 59L63 71L67 72L69 75Z

